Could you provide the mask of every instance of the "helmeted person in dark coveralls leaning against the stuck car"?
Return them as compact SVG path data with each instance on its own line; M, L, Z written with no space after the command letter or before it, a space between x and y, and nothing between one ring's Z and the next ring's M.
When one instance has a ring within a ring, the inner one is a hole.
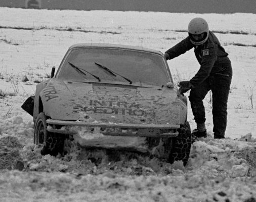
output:
M168 49L164 57L166 60L171 60L194 47L200 69L190 81L180 82L181 93L191 89L189 100L197 124L197 129L192 134L206 137L203 99L211 90L214 137L225 138L227 102L232 79L231 62L218 38L209 31L204 19L192 19L188 25L188 34L188 37Z

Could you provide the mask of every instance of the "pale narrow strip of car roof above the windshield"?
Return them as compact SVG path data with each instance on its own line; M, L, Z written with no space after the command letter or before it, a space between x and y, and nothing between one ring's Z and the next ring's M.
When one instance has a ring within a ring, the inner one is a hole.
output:
M111 43L76 43L69 47L69 49L79 48L79 47L104 47L104 48L120 48L120 49L130 49L134 51L144 51L153 54L163 55L162 52L156 51L155 49L145 48L141 46L132 45L122 45L122 44L111 44Z

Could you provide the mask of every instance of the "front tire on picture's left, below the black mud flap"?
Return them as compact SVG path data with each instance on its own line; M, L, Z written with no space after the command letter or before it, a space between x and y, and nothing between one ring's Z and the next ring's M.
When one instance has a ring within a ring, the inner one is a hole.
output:
M41 149L41 155L57 156L63 153L65 137L62 134L51 133L47 131L46 115L41 112L35 121L34 143L44 144Z

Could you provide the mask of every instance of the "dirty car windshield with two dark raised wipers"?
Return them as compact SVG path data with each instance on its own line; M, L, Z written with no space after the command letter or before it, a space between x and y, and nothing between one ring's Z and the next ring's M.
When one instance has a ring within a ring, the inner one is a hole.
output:
M91 74L79 74L69 63L96 75L102 82L129 83L128 79L133 83L163 85L170 81L162 57L148 52L103 47L75 48L68 54L57 75L57 78L66 80L98 81ZM96 63L107 67L116 73L116 76L100 68Z

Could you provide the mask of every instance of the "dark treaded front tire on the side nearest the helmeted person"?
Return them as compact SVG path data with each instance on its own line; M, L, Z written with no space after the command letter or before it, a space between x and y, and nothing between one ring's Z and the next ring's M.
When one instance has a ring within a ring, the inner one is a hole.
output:
M179 135L173 138L172 151L169 155L169 163L173 164L175 161L183 161L186 166L190 148L191 148L191 129L189 123L186 121L184 125L178 129Z

